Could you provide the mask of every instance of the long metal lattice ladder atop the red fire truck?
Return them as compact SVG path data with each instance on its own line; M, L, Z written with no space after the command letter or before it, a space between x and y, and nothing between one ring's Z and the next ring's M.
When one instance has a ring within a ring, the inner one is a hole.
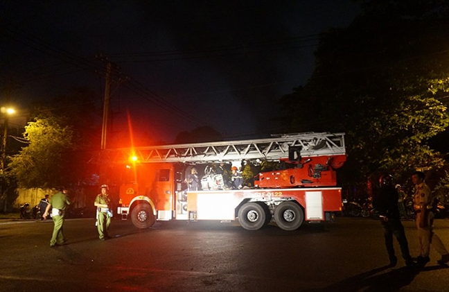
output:
M344 133L305 132L272 135L267 139L105 149L100 152L100 160L127 163L134 156L140 163L213 163L257 159L276 161L287 158L291 146L300 146L298 148L302 157L346 153Z

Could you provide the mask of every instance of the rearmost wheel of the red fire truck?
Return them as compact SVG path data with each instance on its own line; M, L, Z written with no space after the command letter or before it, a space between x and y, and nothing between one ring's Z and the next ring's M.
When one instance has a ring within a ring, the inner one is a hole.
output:
M274 210L274 221L283 230L297 230L304 221L304 212L297 203L284 202Z

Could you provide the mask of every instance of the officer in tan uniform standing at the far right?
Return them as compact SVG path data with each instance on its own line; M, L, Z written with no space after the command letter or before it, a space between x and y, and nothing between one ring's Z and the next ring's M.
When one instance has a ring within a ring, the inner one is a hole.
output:
M413 209L416 213L416 228L418 229L419 243L421 251L416 261L420 266L425 266L430 261L430 243L439 252L441 259L439 264L449 262L449 252L441 242L437 234L434 234L432 225L434 214L431 210L434 196L430 194L430 188L424 182L425 174L422 171L415 171L412 174L412 182L415 184L415 194L413 198Z

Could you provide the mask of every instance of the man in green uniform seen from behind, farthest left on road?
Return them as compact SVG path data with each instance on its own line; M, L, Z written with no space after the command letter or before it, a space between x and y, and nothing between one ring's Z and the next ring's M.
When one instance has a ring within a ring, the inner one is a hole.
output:
M49 216L49 209L51 209L51 215L53 218L53 236L50 240L50 247L62 246L67 239L64 239L64 234L62 233L62 226L64 225L64 213L67 207L71 204L70 198L67 196L67 189L62 188L62 191L54 194L49 205L47 205L44 213L44 219Z

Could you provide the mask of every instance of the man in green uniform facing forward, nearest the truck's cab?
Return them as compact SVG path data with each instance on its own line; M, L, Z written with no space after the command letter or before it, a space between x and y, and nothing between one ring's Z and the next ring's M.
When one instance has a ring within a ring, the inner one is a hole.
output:
M109 225L111 225L112 209L111 198L109 198L109 187L107 184L101 186L101 194L95 198L94 205L97 207L97 228L100 240L110 239Z

